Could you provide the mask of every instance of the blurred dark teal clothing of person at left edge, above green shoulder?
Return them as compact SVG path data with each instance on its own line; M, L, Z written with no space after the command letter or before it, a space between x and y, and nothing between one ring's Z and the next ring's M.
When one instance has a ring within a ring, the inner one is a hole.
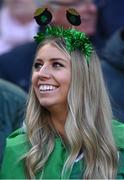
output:
M26 93L19 87L0 79L0 165L6 137L22 126Z

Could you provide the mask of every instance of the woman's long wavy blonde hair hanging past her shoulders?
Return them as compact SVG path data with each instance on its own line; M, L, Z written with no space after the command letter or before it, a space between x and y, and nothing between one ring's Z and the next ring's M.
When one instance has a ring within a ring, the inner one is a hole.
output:
M86 165L82 179L115 178L117 150L111 130L112 112L96 53L92 53L88 65L81 51L71 54L66 51L62 38L48 39L40 44L38 50L46 43L61 49L72 61L69 112L65 123L70 154L63 166L62 177L72 168L82 150ZM25 164L28 178L35 178L35 173L44 167L54 149L54 129L50 123L50 113L38 102L33 87L26 120L31 149L26 154Z

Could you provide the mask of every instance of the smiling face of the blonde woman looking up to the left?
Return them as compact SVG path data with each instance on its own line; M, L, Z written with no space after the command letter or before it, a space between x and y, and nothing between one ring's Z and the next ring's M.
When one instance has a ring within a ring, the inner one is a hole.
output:
M32 84L43 107L65 108L71 82L71 61L57 47L46 44L36 55Z

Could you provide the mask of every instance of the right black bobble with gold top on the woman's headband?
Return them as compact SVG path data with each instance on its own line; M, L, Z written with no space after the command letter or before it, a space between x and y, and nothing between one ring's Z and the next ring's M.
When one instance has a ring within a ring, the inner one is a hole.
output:
M69 8L68 10L66 10L66 18L69 23L74 26L79 26L81 24L79 13L73 8Z

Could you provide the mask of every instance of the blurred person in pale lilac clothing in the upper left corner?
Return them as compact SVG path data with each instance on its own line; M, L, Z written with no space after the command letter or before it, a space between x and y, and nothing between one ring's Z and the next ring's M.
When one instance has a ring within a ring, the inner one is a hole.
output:
M35 0L4 0L0 12L0 54L33 41L37 32L35 8Z

